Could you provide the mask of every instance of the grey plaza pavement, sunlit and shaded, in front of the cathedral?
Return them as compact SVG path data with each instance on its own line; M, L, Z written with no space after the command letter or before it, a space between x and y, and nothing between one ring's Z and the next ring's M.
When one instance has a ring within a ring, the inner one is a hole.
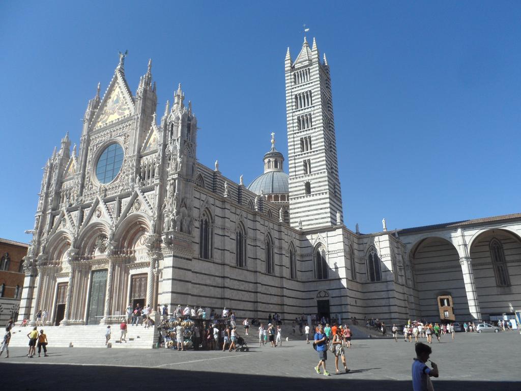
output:
M431 359L440 370L435 389L519 390L518 332L499 334L457 333L432 343ZM74 391L153 389L181 387L184 391L349 389L411 390L414 343L399 339L368 338L346 349L348 374L334 373L334 356L328 352L331 376L315 373L318 359L311 345L296 340L271 348L250 345L249 352L185 351L167 349L123 350L53 348L49 357L27 358L27 349L11 348L0 358L2 389ZM339 368L342 368L339 363Z

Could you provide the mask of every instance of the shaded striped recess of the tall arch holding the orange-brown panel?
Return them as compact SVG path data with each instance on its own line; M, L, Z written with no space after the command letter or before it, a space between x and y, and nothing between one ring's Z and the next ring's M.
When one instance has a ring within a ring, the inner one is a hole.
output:
M454 245L440 237L419 240L410 251L416 314L429 321L440 320L438 294L450 292L456 320L471 319L460 254Z

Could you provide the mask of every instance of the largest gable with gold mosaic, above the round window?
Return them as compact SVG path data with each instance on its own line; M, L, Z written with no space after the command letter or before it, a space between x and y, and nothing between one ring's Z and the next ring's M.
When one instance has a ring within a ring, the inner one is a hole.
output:
M96 118L93 121L96 124L94 128L101 128L110 122L127 117L133 113L134 103L127 81L123 73L116 69L116 73L110 81L107 92L96 113Z

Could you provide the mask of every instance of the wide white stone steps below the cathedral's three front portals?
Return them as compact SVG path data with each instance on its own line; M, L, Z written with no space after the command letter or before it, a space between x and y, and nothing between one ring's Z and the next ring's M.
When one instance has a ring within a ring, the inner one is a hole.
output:
M105 331L107 326L45 326L39 327L47 335L49 347L75 347L75 348L105 348ZM127 343L119 343L121 335L119 325L110 326L111 348L117 349L151 349L157 342L155 327L144 328L143 326L128 326ZM29 338L27 334L32 327L14 327L11 329L10 347L28 347Z

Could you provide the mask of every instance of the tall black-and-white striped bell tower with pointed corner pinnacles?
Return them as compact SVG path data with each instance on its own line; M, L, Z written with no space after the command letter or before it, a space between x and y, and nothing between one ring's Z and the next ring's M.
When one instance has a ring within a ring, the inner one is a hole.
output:
M331 78L326 55L304 38L295 61L290 49L286 69L290 225L314 229L342 222ZM340 220L337 221L337 212Z

